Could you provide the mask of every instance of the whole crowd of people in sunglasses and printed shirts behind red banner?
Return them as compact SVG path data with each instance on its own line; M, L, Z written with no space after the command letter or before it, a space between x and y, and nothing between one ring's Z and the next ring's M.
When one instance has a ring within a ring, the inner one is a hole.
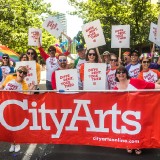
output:
M71 44L71 39L67 37ZM85 63L105 63L106 64L106 90L137 90L137 89L160 89L160 58L153 63L153 55L150 53L141 54L137 50L128 50L123 53L122 58L109 51L101 55L95 48L86 49L82 44L76 46L77 59L74 65L69 65L67 57L70 55L70 47L64 53L56 56L56 47L49 46L48 53L42 48L40 39L38 40L38 50L40 56L46 62L46 89L56 90L56 72L57 70L67 70L75 68L78 73L78 86L83 89L84 64ZM26 53L20 55L19 61L35 61L37 84L27 85L25 77L28 69L20 66L15 71L10 65L10 57L3 54L2 64L0 66L0 89L17 90L25 94L36 94L37 92L25 92L27 90L39 90L41 66L38 63L38 55L35 49L29 48ZM10 85L12 84L12 85ZM12 88L11 88L12 86ZM14 86L14 88L13 88ZM18 152L19 144L11 144L10 152ZM127 149L132 153L132 149ZM141 154L141 150L136 149L136 154Z

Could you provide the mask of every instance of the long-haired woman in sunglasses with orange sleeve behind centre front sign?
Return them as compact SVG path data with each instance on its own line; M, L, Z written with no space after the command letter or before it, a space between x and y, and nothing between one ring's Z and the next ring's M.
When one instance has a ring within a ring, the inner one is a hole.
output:
M98 63L98 53L95 48L90 48L86 54L86 63ZM80 80L84 81L84 63L80 66Z

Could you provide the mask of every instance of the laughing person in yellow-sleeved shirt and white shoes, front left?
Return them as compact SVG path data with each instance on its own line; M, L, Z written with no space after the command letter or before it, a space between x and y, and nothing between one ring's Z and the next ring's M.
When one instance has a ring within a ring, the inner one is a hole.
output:
M33 90L34 86L31 85L28 87L27 83L25 82L24 78L27 76L28 70L25 66L20 66L16 74L9 74L7 75L6 79L0 85L0 90L15 90L15 91L22 91L22 93L29 94L26 92L27 90ZM19 144L11 144L9 152L18 152L20 151Z

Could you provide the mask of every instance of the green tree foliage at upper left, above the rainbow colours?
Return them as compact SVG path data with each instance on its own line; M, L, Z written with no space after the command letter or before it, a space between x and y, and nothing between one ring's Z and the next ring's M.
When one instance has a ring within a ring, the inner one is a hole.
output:
M28 46L28 29L40 28L47 15L55 15L51 5L43 0L0 0L0 43L25 53ZM43 46L47 48L55 42L49 33L43 32Z

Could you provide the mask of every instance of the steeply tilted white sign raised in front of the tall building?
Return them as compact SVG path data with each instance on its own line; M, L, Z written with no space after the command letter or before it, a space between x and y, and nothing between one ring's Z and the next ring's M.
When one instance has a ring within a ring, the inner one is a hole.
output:
M58 21L58 19L51 16L44 21L42 27L56 38L58 38L64 30L63 25Z

